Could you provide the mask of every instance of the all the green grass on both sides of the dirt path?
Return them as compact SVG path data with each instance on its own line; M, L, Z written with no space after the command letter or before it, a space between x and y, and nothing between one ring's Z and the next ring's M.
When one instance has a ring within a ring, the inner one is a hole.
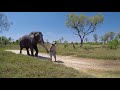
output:
M50 45L47 45L49 47ZM40 52L46 52L38 45ZM19 45L8 45L0 47L0 77L9 78L120 78L120 69L117 70L77 70L54 64L47 60L39 60L30 56L16 55L5 52L5 49L19 49ZM57 45L57 54L75 55L84 58L96 58L106 60L120 60L120 46L117 50L101 48L100 45L84 46L76 49L72 46L64 48Z

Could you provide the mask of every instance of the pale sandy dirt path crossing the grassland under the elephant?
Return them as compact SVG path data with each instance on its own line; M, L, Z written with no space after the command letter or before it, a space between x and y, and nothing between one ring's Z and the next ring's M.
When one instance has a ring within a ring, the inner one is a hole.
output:
M6 50L19 54L19 50ZM22 54L27 55L26 51L22 51ZM49 54L39 53L38 58L48 59ZM54 61L54 58L53 58ZM57 55L56 64L64 64L68 67L73 67L78 70L92 69L92 70L117 70L120 69L120 60L96 60L96 59L83 59L72 56L60 56Z

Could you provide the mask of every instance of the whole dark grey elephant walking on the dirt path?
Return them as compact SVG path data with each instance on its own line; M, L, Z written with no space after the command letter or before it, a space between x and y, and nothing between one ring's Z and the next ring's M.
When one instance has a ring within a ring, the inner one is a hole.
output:
M47 47L44 45L43 35L41 32L31 32L29 35L25 35L20 38L20 53L22 53L22 49L26 48L27 54L30 55L28 49L31 50L31 56L34 56L33 49L35 49L35 56L38 56L38 48L37 44L40 43L49 53Z

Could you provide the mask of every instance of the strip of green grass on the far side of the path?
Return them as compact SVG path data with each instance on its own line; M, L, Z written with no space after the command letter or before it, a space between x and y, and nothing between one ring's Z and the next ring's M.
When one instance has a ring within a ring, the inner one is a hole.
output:
M94 59L105 59L105 60L120 60L120 46L117 50L112 50L108 48L102 48L101 45L87 45L84 44L82 48L79 45L75 45L74 49L72 45L69 44L67 48L64 45L57 44L57 55L74 55L76 57L82 58L94 58ZM50 45L47 44L49 48ZM4 49L18 49L19 45L8 45L3 46ZM38 45L39 52L46 53L45 49ZM25 49L24 49L25 50Z

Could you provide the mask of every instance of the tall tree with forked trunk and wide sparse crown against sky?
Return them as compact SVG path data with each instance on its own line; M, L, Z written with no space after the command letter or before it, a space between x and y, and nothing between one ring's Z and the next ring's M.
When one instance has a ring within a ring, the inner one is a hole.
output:
M83 14L77 16L76 14L68 14L66 25L73 30L73 34L80 38L80 47L83 45L83 40L86 35L94 32L96 27L103 23L104 17L101 14L87 17Z

